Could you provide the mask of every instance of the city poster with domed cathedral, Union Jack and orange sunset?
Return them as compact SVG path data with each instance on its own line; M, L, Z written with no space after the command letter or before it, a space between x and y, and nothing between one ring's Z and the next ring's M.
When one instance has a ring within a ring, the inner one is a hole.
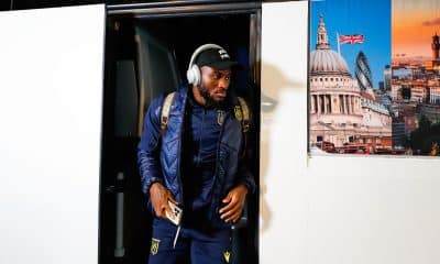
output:
M440 2L310 3L310 154L439 155Z

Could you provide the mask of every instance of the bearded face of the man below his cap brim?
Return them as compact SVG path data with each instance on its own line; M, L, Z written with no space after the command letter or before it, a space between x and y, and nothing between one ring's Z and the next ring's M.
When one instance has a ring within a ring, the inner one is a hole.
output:
M229 85L231 84L231 69L217 69L202 66L200 94L208 105L217 105L227 97Z

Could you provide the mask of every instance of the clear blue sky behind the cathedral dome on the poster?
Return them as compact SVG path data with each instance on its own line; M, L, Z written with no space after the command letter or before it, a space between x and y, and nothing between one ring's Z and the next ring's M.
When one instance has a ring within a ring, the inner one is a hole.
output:
M310 3L310 51L315 51L319 14L322 13L329 34L330 47L338 52L337 32L340 35L363 34L363 44L341 45L341 55L354 76L356 56L362 51L373 74L373 86L384 80L385 65L392 58L391 0L321 0Z

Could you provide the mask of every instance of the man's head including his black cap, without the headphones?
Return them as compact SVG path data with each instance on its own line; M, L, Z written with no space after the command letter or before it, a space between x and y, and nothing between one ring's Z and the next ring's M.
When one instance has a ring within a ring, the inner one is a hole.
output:
M239 64L220 47L201 51L195 64L200 72L199 81L195 81L193 92L201 96L202 105L213 106L221 103L226 97L231 81L232 69ZM199 101L200 102L200 101Z

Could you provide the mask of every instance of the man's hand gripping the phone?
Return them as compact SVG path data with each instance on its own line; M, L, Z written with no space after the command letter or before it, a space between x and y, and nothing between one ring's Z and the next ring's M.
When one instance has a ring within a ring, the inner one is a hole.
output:
M166 219L165 211L173 216L173 210L168 206L168 200L178 205L174 199L173 194L165 188L161 183L154 183L150 187L150 199L153 205L154 212L158 218Z

